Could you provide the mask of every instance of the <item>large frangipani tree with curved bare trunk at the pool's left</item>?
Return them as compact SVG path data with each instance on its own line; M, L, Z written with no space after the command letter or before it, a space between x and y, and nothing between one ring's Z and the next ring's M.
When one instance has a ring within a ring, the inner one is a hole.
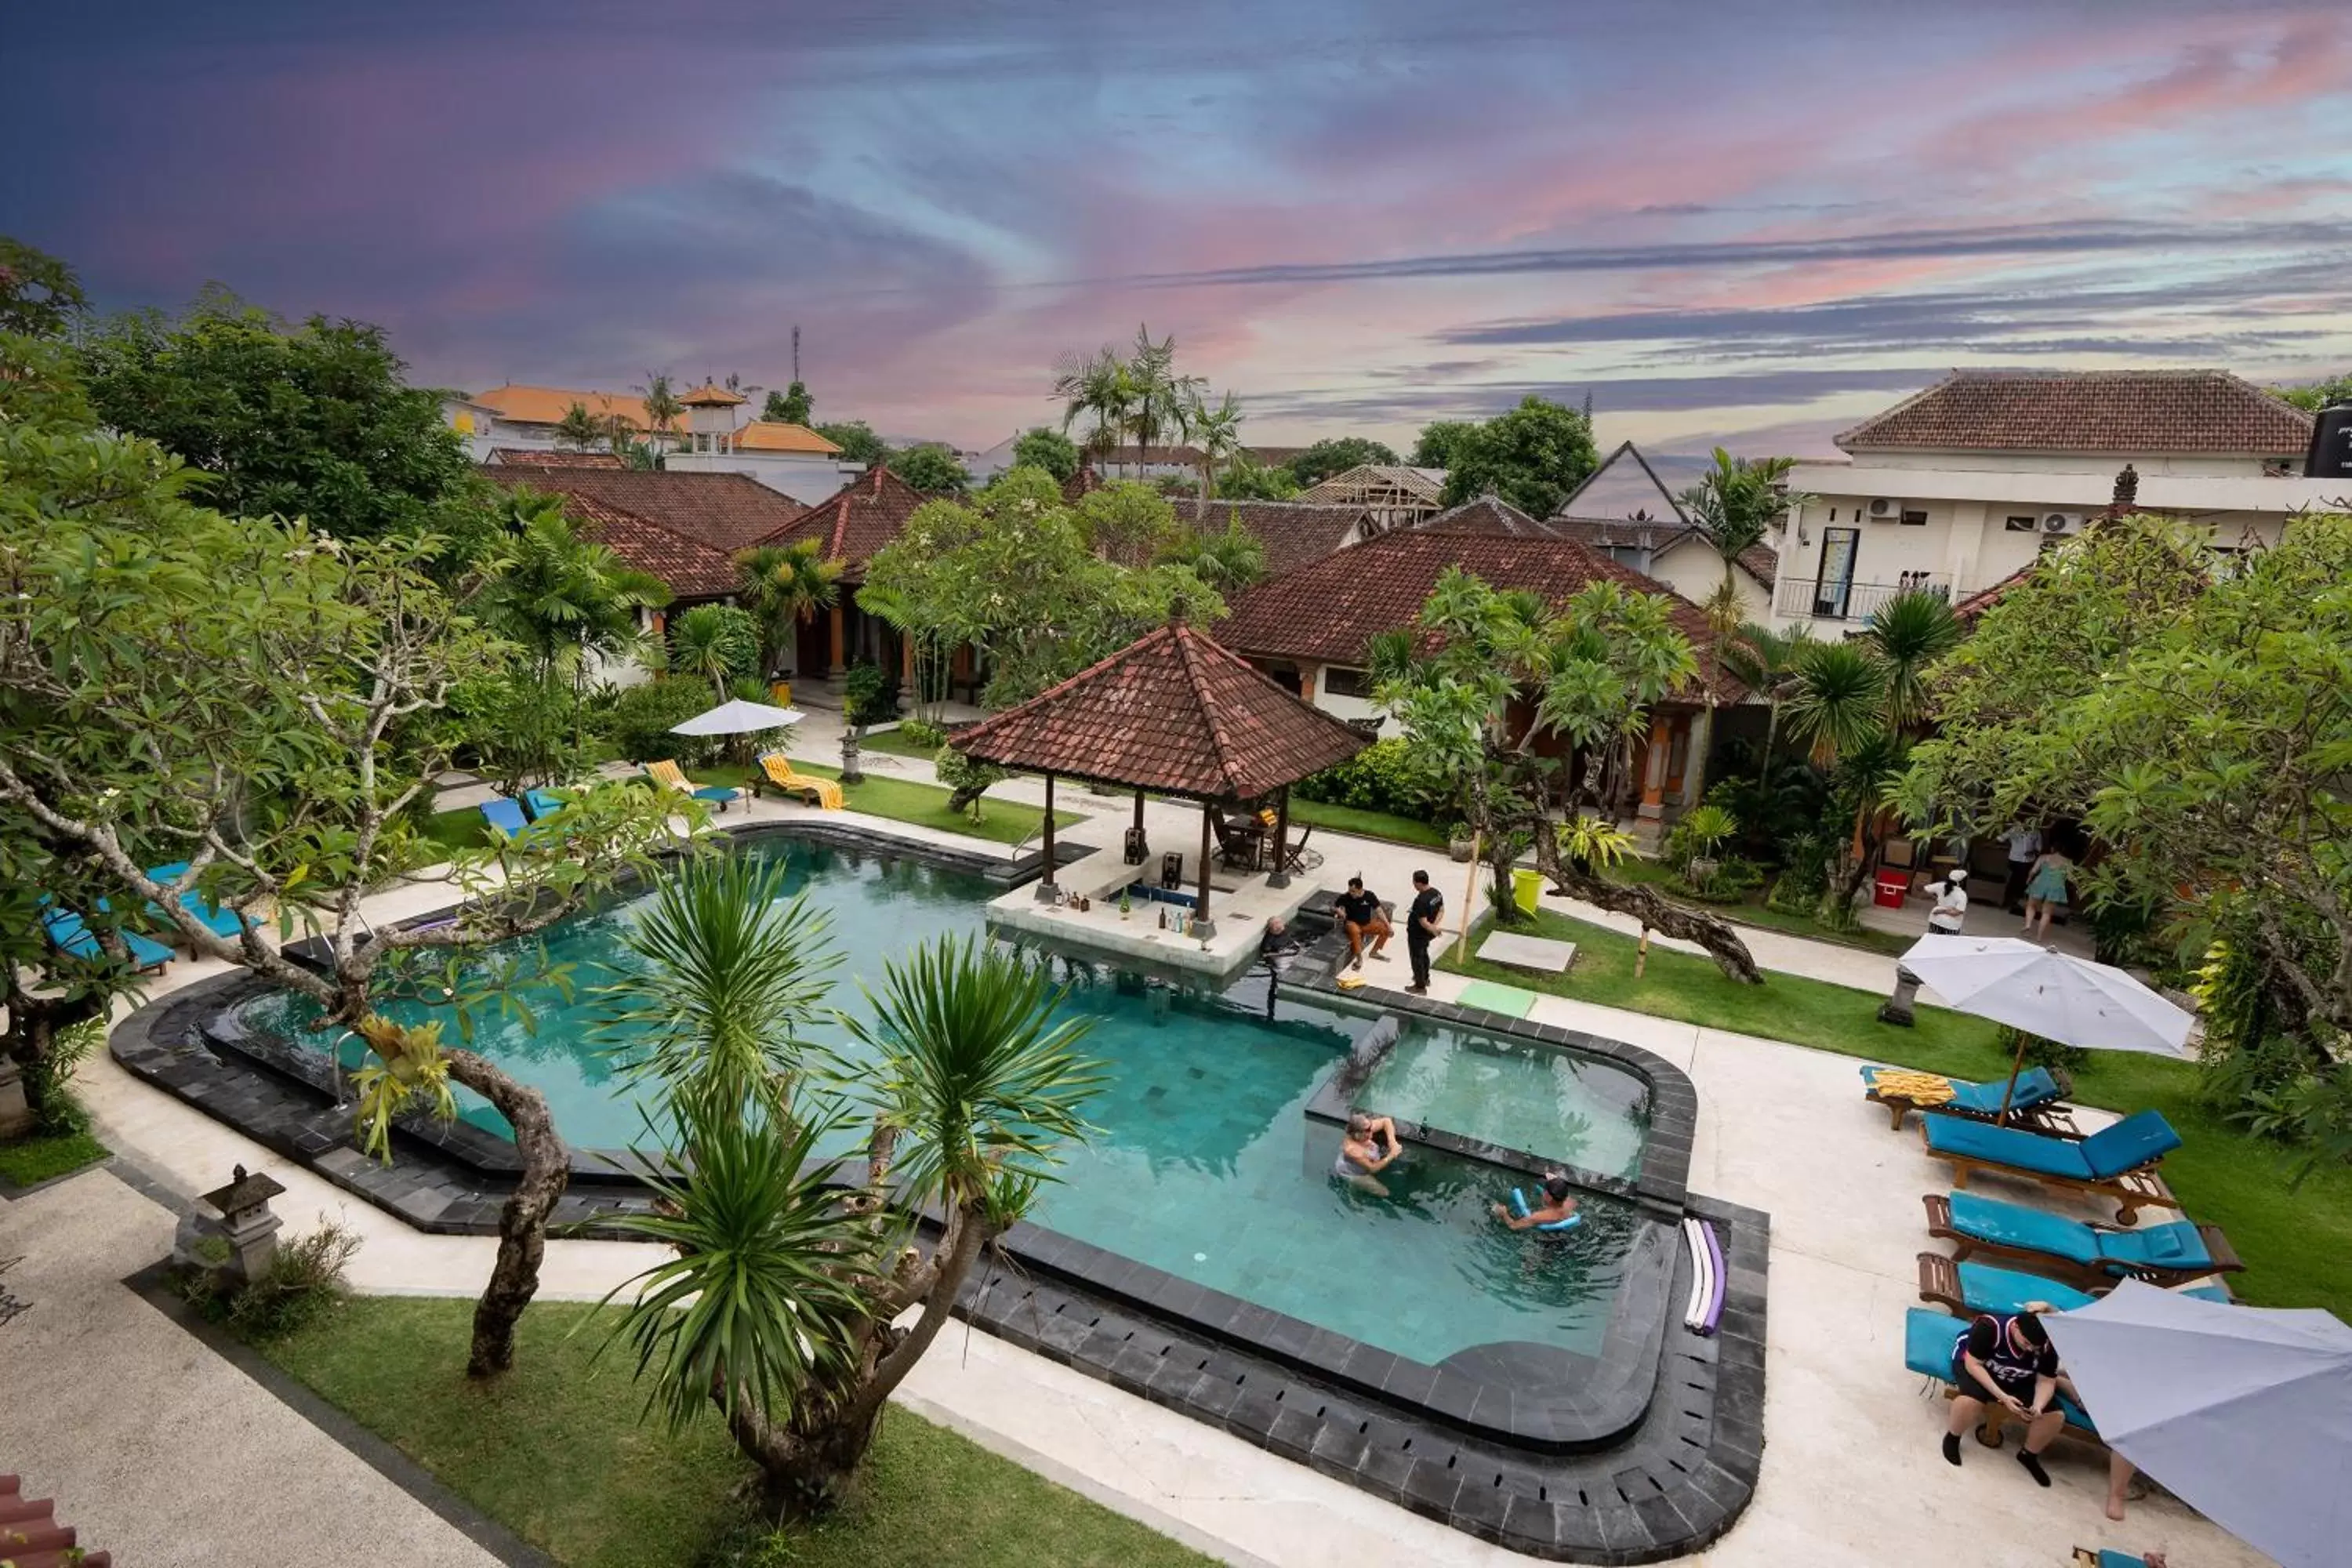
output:
M28 402L9 374L0 402ZM468 1359L473 1375L503 1371L569 1154L536 1088L442 1044L437 1025L388 1020L379 990L405 959L480 954L647 867L677 806L588 788L560 842L456 851L449 877L468 903L452 922L365 919L367 891L419 863L409 811L466 738L447 693L506 656L423 576L437 541L322 543L223 517L186 501L191 475L153 442L71 416L12 418L0 442L0 515L31 524L0 531L0 842L80 867L64 886L101 924L106 907L153 910L200 959L308 997L322 1027L355 1032L372 1053L369 1150L388 1150L390 1112L412 1098L452 1112L452 1081L508 1119L522 1175ZM172 889L148 872L167 860L186 863ZM179 889L254 919L221 936ZM325 940L325 969L263 938L278 924L263 905ZM470 999L508 994L527 966L527 954L496 964Z

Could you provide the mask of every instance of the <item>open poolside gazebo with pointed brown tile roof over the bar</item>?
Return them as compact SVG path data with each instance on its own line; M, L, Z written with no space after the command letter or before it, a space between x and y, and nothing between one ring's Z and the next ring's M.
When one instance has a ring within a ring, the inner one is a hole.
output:
M1080 778L1136 792L1136 835L1145 792L1197 799L1200 896L1195 933L1209 936L1209 863L1221 802L1277 797L1275 867L1284 886L1291 785L1355 757L1369 738L1301 703L1268 675L1216 646L1207 632L1174 621L1110 658L1080 670L1018 708L953 738L974 762L1044 773L1044 879L1056 898L1054 780Z

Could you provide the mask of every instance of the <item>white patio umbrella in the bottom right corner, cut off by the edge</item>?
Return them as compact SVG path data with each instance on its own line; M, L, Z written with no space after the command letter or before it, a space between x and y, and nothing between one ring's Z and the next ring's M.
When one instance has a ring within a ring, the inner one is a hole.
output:
M2126 1279L2042 1319L2098 1434L2286 1568L2352 1540L2352 1328Z

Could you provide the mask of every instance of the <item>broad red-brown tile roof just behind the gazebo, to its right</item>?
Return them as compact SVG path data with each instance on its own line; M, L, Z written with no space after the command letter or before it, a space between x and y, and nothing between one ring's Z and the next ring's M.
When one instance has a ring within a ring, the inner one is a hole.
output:
M1675 625L1691 646L1708 646L1708 618L1696 604L1576 541L1512 538L1428 524L1395 529L1235 595L1232 618L1218 625L1218 635L1225 646L1251 658L1362 670L1371 639L1411 625L1446 567L1461 567L1494 588L1531 588L1550 604L1564 604L1590 583L1665 595ZM1705 663L1700 656L1700 665ZM1722 672L1712 684L1724 701L1736 703L1748 693Z

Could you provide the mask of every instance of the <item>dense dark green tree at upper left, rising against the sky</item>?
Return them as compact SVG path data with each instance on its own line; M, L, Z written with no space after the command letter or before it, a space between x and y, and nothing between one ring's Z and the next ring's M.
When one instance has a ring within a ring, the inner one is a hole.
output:
M383 331L322 315L285 327L223 289L172 320L118 315L82 346L99 418L214 475L207 503L306 517L336 538L492 541L489 484L402 383Z

